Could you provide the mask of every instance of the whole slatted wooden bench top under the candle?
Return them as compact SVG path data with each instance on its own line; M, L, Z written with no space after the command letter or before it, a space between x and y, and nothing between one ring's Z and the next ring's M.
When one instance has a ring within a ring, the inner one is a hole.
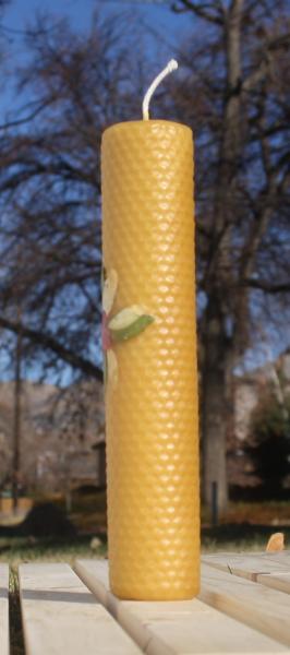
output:
M0 565L0 653L9 654L9 571ZM26 655L290 653L290 551L208 555L198 598L119 600L105 560L22 564Z

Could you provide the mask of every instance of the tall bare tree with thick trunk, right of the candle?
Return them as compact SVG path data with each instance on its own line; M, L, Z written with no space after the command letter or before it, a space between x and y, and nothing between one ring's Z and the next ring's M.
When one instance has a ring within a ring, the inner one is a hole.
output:
M203 491L227 505L230 378L253 343L256 306L290 291L289 47L282 2L180 0L204 21L177 88L197 141ZM274 302L271 302L274 308ZM276 305L277 307L277 305ZM271 320L274 315L271 313Z

